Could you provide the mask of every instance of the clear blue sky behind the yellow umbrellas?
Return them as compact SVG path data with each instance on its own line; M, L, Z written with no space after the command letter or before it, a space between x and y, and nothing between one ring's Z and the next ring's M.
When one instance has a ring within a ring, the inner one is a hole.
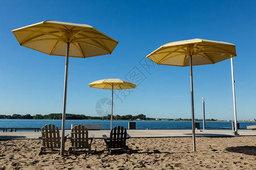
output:
M69 59L67 113L97 116L97 101L111 91L88 84L140 73L137 88L115 98L114 114L191 118L189 67L148 71L140 63L160 45L199 38L236 44L237 118L256 118L255 8L256 1L1 1L0 114L62 113L65 57L20 46L11 32L56 20L92 25L119 41L111 55ZM205 97L206 118L234 120L230 59L193 67L193 78L195 118L203 118Z

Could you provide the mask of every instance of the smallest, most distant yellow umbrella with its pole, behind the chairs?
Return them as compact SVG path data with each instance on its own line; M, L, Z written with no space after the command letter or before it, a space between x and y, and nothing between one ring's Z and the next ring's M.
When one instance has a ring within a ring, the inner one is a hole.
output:
M90 87L111 89L112 90L112 107L111 107L111 126L113 128L113 90L123 90L129 88L135 88L136 84L121 79L102 79L97 80L89 84Z

